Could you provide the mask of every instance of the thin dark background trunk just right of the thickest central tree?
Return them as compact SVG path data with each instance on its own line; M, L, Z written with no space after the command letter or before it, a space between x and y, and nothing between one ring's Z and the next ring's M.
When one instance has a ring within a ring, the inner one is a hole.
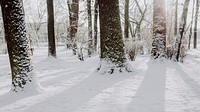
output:
M124 24L124 38L129 38L129 0L125 0L125 9L124 9L124 18L125 18L125 24Z

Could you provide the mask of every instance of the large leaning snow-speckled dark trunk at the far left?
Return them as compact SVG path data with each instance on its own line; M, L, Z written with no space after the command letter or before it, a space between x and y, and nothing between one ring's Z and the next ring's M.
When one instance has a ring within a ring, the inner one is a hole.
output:
M5 38L12 72L12 90L26 91L34 83L33 66L26 36L22 0L1 0Z

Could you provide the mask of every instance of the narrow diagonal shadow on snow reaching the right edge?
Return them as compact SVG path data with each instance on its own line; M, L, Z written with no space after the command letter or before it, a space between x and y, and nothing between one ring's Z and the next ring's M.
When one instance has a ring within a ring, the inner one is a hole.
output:
M177 72L179 72L183 81L193 90L193 92L195 92L196 95L198 95L197 98L200 99L200 85L193 78L191 78L179 64L176 64L174 67Z

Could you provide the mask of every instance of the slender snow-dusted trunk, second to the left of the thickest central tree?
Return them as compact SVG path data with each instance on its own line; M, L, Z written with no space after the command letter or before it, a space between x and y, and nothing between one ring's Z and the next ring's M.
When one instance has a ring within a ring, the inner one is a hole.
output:
M88 56L93 54L93 38L92 38L92 13L91 13L91 0L87 0L88 12Z

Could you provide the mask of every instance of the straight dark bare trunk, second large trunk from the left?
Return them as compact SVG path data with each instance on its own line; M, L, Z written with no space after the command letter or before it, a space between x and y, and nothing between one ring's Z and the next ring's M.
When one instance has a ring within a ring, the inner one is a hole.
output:
M48 10L48 55L56 57L53 0L47 0L47 10Z

